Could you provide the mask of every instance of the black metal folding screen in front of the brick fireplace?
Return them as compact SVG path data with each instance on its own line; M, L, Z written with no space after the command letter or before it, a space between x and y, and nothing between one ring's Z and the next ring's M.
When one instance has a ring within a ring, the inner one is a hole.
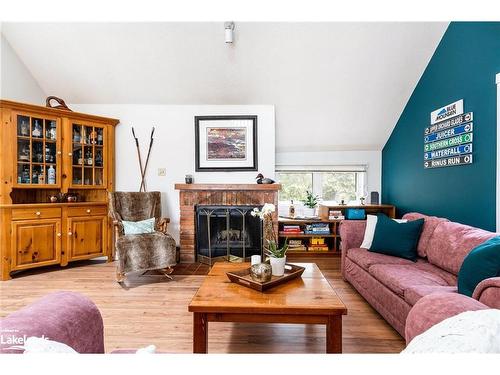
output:
M250 214L254 208L197 206L198 261L211 265L218 260L243 262L252 255L262 255L262 223Z

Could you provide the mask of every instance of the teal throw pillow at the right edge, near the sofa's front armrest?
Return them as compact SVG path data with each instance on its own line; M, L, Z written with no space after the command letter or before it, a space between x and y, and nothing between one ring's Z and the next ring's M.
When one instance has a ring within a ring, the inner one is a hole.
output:
M471 250L458 271L458 293L472 297L477 284L500 276L500 237L493 237Z

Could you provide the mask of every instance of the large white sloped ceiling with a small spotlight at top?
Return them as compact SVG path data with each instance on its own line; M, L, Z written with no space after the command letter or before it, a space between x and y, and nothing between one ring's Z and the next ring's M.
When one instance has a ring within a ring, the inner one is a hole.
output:
M278 151L379 150L447 23L5 23L67 103L273 104ZM112 115L112 114L110 114Z

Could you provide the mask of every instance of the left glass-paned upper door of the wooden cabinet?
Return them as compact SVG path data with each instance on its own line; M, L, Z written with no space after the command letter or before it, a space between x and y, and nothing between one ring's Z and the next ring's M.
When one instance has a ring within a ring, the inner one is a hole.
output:
M60 186L59 121L17 114L16 185Z

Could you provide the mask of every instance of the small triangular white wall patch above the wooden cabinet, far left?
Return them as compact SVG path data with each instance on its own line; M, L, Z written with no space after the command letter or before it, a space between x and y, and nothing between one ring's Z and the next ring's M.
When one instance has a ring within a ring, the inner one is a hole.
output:
M24 103L45 104L47 95L1 35L0 97Z

